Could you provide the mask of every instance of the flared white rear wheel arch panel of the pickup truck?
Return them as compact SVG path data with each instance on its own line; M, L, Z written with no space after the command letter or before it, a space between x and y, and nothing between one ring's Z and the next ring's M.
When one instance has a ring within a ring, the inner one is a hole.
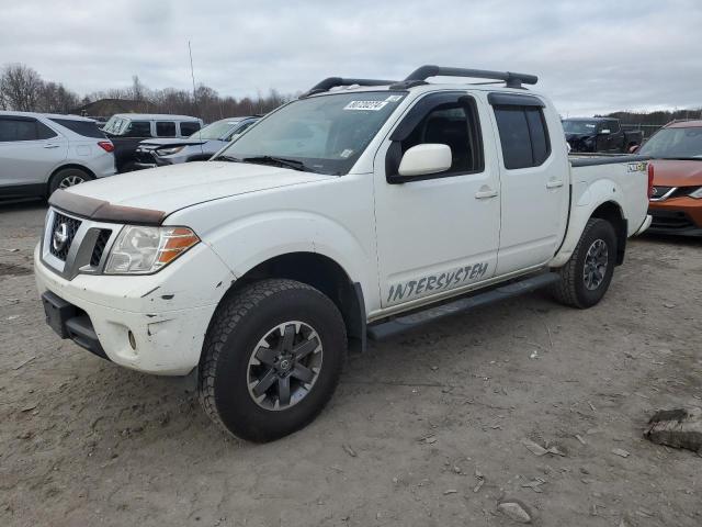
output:
M562 267L570 259L585 231L585 225L600 205L607 202L614 203L620 209L622 217L626 220L626 213L622 206L623 197L624 193L621 186L611 179L600 179L595 183L588 183L587 181L575 182L573 184L568 229L561 248L548 265L551 267Z

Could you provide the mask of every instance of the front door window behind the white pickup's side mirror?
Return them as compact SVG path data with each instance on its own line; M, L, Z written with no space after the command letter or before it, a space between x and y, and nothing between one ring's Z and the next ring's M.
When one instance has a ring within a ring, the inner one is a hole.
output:
M443 176L467 173L483 169L479 155L480 144L476 131L477 115L472 105L464 102L441 104L433 108L415 126L405 141L405 154L412 146L441 144L451 148L451 168Z

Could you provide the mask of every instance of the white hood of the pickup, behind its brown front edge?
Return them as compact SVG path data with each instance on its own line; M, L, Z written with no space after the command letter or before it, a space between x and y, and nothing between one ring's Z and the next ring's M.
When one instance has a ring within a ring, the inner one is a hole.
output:
M86 197L168 215L230 195L333 178L336 176L249 162L194 161L102 178L71 187L67 192L75 198Z

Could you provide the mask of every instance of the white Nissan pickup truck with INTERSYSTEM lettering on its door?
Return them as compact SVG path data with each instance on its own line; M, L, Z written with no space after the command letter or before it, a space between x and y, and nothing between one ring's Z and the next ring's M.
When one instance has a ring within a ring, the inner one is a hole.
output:
M650 223L650 173L569 160L535 82L329 78L210 161L58 191L34 256L47 323L126 368L196 375L216 423L265 441L321 411L366 337L542 287L592 306Z

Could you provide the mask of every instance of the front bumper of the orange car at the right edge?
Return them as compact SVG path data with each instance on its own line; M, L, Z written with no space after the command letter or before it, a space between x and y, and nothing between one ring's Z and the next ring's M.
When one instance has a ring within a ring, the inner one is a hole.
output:
M702 200L680 197L650 202L653 222L648 233L702 236Z

